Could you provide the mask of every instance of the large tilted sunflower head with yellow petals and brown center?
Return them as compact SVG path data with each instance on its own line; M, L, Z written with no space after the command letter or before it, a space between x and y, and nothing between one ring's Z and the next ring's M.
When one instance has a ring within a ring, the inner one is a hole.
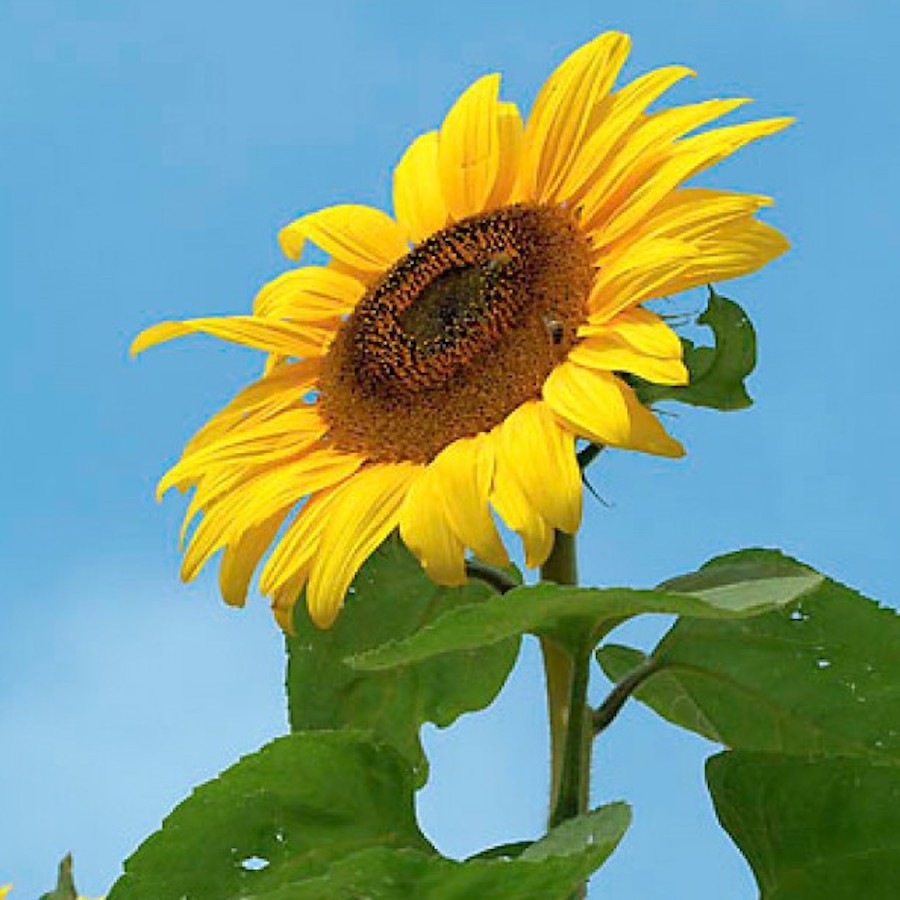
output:
M523 122L486 75L393 174L394 216L332 206L287 225L329 257L265 285L251 315L162 322L136 353L194 332L268 354L263 376L190 440L162 479L200 515L182 577L222 551L224 599L260 589L280 624L305 588L337 615L394 529L428 575L466 579L466 552L508 563L495 515L541 565L581 519L576 441L684 453L621 377L684 384L677 335L646 301L758 269L787 248L754 214L766 197L683 182L777 118L695 133L744 99L648 112L694 73L617 91L624 34L550 76Z

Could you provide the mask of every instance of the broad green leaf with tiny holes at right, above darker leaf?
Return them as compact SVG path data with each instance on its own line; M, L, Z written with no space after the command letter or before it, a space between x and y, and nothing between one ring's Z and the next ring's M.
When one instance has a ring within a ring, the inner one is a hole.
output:
M598 659L616 681L641 661L615 646ZM752 619L681 618L653 659L635 696L728 747L900 761L900 616L835 581Z

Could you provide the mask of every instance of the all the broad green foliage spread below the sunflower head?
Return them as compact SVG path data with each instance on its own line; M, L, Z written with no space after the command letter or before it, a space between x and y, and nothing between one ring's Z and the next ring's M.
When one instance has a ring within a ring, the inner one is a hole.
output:
M489 704L522 634L583 641L646 612L678 616L653 654L608 645L598 659L615 680L645 667L641 700L732 748L708 782L763 900L900 896L895 613L774 551L719 557L655 590L497 594L435 587L392 541L333 630L298 605L293 733L194 791L109 900L569 900L621 839L628 808L446 859L415 819L419 729Z

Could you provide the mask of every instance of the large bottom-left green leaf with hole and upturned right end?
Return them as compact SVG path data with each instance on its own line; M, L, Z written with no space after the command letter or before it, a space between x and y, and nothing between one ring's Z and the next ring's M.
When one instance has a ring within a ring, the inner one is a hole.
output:
M517 859L437 855L413 812L412 772L352 731L297 732L197 788L125 863L109 900L566 898L630 823L614 803ZM531 891L531 893L529 893Z

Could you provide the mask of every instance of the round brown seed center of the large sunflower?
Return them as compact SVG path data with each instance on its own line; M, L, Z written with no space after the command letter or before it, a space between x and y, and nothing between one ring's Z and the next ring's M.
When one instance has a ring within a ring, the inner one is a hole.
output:
M575 343L592 268L571 214L510 206L419 244L377 281L324 360L329 440L378 462L428 462L489 431Z

